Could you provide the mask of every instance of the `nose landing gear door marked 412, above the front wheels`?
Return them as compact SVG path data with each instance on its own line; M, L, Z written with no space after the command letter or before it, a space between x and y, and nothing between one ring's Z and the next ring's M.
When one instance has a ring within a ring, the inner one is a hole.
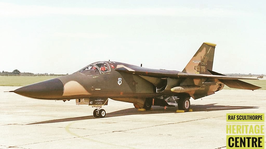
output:
M88 104L89 106L103 106L108 104L108 98L76 99L76 104Z

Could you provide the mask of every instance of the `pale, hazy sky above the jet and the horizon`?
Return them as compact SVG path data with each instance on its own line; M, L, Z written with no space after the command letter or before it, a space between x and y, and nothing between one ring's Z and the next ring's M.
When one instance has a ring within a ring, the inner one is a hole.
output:
M182 71L203 42L213 70L266 74L265 1L1 1L0 71L73 73L111 60Z

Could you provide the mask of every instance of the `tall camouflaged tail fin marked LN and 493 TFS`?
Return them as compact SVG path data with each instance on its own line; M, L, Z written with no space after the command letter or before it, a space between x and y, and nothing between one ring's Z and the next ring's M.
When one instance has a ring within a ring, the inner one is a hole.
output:
M213 57L216 44L204 42L182 72L208 74L213 69Z

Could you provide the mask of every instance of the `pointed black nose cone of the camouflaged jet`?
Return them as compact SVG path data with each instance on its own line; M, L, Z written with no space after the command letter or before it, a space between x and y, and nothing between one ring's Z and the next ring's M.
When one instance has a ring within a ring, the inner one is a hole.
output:
M61 80L55 78L21 87L13 92L31 98L59 99L63 95L64 85Z

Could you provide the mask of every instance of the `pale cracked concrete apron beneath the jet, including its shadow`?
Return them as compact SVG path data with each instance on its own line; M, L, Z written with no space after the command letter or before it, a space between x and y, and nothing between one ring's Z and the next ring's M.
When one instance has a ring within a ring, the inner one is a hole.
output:
M266 90L222 90L190 99L193 112L177 107L138 111L109 100L105 118L75 100L39 100L4 93L0 86L0 149L226 148L226 113L265 113Z

